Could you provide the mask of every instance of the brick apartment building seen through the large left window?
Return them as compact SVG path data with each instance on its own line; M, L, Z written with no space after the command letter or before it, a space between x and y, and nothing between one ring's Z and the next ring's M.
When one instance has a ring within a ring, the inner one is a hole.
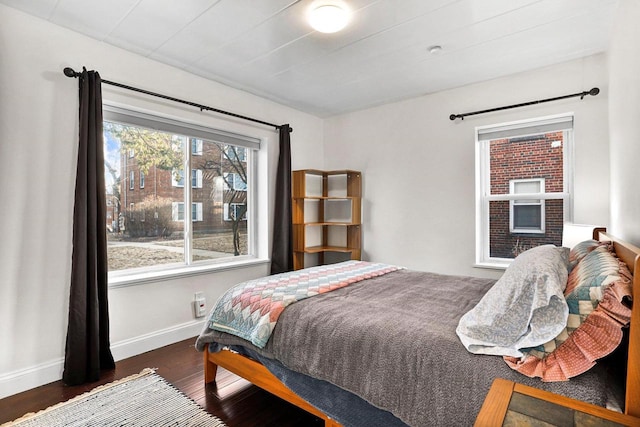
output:
M239 229L246 230L247 150L196 138L189 143L193 167L186 177L183 170L155 164L145 170L135 150L122 148L120 199L126 234L168 237L183 230L189 213L194 234L230 231L234 218L240 219ZM184 206L184 186L189 184L190 210Z

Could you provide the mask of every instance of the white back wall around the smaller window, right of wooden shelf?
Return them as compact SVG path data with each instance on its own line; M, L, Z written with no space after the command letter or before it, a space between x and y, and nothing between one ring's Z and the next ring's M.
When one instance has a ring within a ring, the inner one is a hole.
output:
M589 90L571 98L449 120L465 113ZM604 55L426 95L325 121L325 167L363 171L363 257L409 268L497 277L474 268L475 127L575 113L576 223L609 220Z

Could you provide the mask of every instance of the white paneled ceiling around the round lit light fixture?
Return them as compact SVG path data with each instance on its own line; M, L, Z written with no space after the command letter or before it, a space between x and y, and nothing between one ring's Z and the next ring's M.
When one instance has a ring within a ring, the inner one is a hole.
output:
M0 2L327 117L603 52L618 0L346 0L335 34L312 0Z

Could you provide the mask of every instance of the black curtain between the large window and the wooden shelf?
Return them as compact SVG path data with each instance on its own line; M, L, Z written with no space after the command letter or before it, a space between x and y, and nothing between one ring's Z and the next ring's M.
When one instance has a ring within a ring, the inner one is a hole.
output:
M291 128L280 126L280 155L276 176L276 206L273 220L271 274L293 270L293 225L291 223Z

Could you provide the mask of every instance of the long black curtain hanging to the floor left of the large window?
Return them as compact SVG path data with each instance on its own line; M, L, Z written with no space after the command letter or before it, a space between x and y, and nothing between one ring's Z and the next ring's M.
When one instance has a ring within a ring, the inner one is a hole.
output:
M80 141L73 212L69 326L63 381L97 381L115 368L109 345L107 236L100 75L83 69L80 83Z

